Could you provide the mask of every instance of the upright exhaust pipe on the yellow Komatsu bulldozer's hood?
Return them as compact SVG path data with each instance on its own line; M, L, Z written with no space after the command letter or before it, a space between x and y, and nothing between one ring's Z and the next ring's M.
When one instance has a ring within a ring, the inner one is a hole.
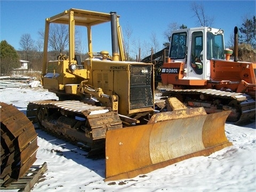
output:
M111 19L111 44L112 44L112 57L113 61L119 61L118 52L118 37L117 37L117 14L116 12L110 12Z

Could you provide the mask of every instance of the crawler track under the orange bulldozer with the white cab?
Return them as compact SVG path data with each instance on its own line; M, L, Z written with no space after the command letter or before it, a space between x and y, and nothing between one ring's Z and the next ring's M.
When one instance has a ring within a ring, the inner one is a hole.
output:
M173 89L162 97L177 97L189 107L204 107L206 112L231 110L227 121L242 124L255 118L255 100L250 95L214 89Z

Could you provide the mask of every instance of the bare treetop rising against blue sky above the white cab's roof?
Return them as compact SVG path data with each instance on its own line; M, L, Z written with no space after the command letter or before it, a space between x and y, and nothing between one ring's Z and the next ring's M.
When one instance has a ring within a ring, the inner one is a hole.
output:
M209 17L204 11L203 4L196 4L196 2L191 3L191 10L194 12L194 17L197 18L197 25L202 27L211 27L214 21L213 17Z

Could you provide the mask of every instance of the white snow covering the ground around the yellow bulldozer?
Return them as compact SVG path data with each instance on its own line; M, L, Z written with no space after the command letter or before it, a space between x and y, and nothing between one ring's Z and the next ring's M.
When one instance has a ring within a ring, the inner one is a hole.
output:
M0 100L26 113L29 101L57 99L42 87L1 89ZM35 125L36 126L36 125ZM92 160L77 146L42 130L37 161L48 170L31 191L256 191L255 122L225 124L233 146L210 156L194 157L132 179L104 182L105 159Z

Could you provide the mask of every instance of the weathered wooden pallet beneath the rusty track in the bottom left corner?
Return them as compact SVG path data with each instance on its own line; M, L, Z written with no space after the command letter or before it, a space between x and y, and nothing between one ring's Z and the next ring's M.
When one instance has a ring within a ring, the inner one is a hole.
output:
M23 175L18 181L12 182L8 187L2 187L3 180L0 180L1 191L10 191L15 189L15 191L24 191L29 192L31 188L35 185L35 183L40 179L40 176L47 170L46 162L43 165L32 165L26 174Z

